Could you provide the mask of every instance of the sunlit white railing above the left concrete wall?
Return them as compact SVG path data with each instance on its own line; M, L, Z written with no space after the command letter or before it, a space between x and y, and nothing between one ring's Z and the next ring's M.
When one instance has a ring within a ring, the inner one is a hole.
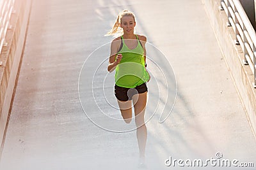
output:
M10 25L10 17L13 11L15 0L0 0L0 53L3 46L6 46L6 32Z

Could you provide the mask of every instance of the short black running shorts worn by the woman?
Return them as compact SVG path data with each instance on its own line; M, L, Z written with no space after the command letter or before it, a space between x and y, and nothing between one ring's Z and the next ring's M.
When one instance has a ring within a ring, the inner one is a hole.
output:
M134 94L141 94L147 91L148 88L146 83L138 85L134 88L125 88L115 85L115 96L119 101L131 101Z

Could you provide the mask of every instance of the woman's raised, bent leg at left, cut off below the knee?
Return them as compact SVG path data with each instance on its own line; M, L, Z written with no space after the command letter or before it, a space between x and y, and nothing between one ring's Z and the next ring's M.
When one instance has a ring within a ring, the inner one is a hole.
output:
M132 101L117 100L117 102L125 123L130 124L132 120Z

